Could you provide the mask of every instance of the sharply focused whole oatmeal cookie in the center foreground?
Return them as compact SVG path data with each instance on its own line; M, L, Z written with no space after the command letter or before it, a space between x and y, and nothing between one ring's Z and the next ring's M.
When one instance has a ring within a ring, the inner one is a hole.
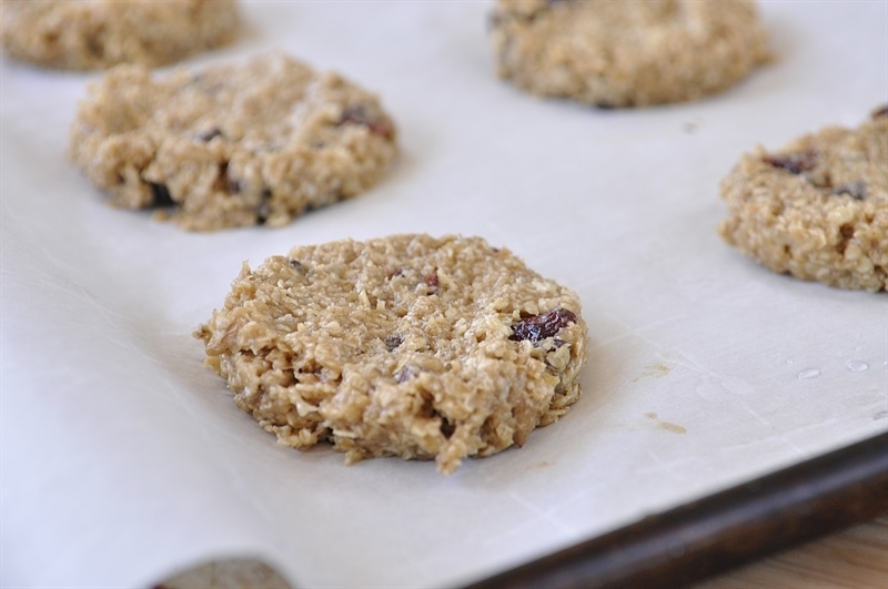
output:
M234 400L280 443L346 464L522 446L581 394L572 291L480 237L395 235L244 264L194 333Z

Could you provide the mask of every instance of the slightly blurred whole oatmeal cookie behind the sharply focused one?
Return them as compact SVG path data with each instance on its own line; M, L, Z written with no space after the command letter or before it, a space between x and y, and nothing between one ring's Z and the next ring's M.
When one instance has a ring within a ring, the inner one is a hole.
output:
M175 206L184 229L281 226L357 195L395 154L377 98L280 53L163 79L119 65L72 126L74 162L112 204Z

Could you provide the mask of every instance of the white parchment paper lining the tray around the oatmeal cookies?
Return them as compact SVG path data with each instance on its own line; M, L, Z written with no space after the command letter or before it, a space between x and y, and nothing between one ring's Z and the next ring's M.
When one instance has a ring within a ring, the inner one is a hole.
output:
M98 74L0 61L3 587L145 587L254 555L301 587L444 587L888 429L888 297L725 246L740 153L888 102L888 4L763 2L778 60L710 99L597 111L493 77L488 2L243 2L196 68L282 49L377 91L402 155L281 230L113 210L68 128ZM482 235L578 292L585 394L519 450L342 465L278 446L191 331L240 264L391 233Z

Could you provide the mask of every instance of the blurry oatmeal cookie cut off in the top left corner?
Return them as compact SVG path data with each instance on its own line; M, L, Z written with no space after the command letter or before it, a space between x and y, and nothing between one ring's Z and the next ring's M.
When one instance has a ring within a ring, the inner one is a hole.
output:
M230 42L234 0L2 0L0 40L19 60L68 70L163 65Z

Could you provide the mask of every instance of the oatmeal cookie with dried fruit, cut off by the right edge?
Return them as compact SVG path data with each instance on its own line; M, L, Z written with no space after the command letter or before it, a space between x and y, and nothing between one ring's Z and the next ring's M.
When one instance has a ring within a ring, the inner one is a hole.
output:
M744 155L722 199L722 236L770 270L888 290L888 110L857 129L829 126Z

